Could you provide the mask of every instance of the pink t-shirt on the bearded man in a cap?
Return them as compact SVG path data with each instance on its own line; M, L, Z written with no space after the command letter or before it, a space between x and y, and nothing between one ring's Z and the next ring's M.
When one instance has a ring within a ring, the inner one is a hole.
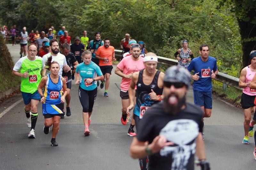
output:
M140 60L134 61L132 60L132 55L124 57L124 59L117 65L120 70L123 70L124 74L131 74L141 69L144 69L144 58L140 57ZM129 89L130 83L132 79L130 78L122 78L121 81L121 90L127 91Z

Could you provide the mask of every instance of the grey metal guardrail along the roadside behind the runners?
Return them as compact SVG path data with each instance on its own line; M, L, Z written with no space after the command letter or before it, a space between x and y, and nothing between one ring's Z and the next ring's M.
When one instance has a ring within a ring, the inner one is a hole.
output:
M116 56L119 56L119 57L122 56L121 55L122 50L116 50L115 49L115 53L116 53ZM164 65L172 66L172 65L177 65L177 63L178 63L177 60L174 60L174 59L171 59L171 58L165 58L165 57L161 57L161 56L157 56L157 58L158 58L158 63L164 64ZM231 87L234 87L236 89L242 90L242 88L240 88L238 86L239 78L236 78L236 77L229 76L227 74L218 72L218 75L216 76L216 78L214 80L217 80L221 83L230 85Z

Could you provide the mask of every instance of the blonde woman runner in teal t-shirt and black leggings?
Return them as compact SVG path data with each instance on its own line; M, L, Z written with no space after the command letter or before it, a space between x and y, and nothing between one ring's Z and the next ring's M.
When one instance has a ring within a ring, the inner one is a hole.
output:
M79 100L83 107L84 135L90 135L89 126L93 104L97 96L97 84L95 81L102 80L104 77L100 67L92 62L92 53L86 50L82 54L84 63L76 67L76 85L79 85ZM96 74L98 77L96 77ZM81 76L81 79L80 79Z

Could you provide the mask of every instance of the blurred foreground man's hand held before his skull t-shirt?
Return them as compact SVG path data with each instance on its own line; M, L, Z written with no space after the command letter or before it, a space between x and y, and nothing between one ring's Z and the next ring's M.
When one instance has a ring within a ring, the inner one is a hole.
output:
M170 146L173 145L173 142L167 142L166 138L164 136L157 136L153 140L151 144L148 145L148 147L151 149L152 153L159 152L164 146Z

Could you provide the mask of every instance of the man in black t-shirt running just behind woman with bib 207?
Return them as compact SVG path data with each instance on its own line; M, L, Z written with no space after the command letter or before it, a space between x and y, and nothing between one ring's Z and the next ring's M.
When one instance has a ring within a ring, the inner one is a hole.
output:
M70 45L68 43L64 43L62 45L60 53L65 55L67 64L71 68L71 70L72 71L75 70L76 66L78 65L78 62L76 61L75 55L70 52ZM66 96L66 101L67 101L66 115L67 116L71 115L71 110L70 110L70 100L71 100L70 90L71 90L71 84L72 84L71 70L68 72L66 71L62 72L62 77L66 80L66 83L67 83L67 96Z

